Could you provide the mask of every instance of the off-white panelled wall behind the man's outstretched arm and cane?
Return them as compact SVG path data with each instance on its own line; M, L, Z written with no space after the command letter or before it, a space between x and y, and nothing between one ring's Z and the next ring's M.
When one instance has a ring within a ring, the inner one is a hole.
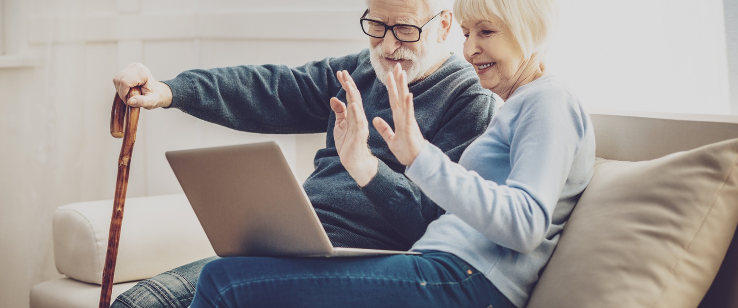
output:
M0 59L0 307L27 307L33 284L59 276L55 208L113 197L121 143L109 134L111 79L123 66L139 61L165 80L193 68L296 66L367 46L356 22L363 0L0 1L20 15L12 34L24 44L15 46L39 63L7 68L13 59ZM165 151L261 140L280 143L304 178L323 137L249 134L142 110L128 196L181 191Z

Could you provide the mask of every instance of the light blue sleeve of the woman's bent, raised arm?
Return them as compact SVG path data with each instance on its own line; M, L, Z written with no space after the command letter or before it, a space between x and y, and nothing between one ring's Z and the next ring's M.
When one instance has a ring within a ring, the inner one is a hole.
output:
M407 177L441 208L492 242L531 252L551 225L584 138L579 109L570 108L566 101L546 100L539 96L526 101L510 126L509 140L503 141L509 142L511 172L504 183L466 170L430 144L407 168Z

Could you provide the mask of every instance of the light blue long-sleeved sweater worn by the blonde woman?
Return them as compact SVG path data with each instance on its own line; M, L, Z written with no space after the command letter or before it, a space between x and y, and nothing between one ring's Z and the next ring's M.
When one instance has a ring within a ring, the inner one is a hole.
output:
M594 159L592 124L579 100L548 75L521 86L458 164L426 143L407 168L447 211L413 250L459 256L524 307Z

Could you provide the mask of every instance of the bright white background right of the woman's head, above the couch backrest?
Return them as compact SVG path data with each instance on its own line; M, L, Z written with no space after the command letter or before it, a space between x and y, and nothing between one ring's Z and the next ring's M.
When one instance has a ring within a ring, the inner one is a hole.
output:
M723 0L558 3L548 72L590 110L731 113Z

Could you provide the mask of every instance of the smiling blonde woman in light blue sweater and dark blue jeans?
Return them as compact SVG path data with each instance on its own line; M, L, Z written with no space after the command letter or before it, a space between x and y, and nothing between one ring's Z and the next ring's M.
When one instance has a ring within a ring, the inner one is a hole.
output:
M506 100L458 164L424 140L401 66L387 75L394 129L373 125L446 210L413 246L421 256L220 259L204 268L193 307L525 307L593 174L587 113L543 70L551 2L456 0L464 57ZM368 134L354 82L337 77L348 105L331 106L345 135Z

